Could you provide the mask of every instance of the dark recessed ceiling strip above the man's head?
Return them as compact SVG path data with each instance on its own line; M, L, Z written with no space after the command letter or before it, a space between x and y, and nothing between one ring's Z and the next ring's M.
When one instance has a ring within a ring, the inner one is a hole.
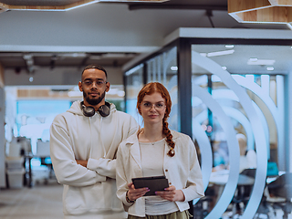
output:
M77 67L98 62L101 66L121 67L139 53L89 53L89 52L0 52L0 63L16 71L36 68Z

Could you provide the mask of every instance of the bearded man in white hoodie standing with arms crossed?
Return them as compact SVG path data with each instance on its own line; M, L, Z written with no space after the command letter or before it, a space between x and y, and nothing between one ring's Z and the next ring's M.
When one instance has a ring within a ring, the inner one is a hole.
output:
M116 152L138 124L105 101L110 90L107 72L84 68L78 87L83 101L57 115L50 128L51 160L57 181L64 185L64 218L126 218L116 196Z

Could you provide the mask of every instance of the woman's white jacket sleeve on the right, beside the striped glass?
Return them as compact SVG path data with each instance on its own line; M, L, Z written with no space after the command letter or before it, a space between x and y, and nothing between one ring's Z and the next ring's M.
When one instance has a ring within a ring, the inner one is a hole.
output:
M187 180L186 188L183 189L185 201L189 202L193 199L202 198L203 193L203 176L201 167L198 161L198 156L195 151L193 141L189 138L189 162L190 174Z

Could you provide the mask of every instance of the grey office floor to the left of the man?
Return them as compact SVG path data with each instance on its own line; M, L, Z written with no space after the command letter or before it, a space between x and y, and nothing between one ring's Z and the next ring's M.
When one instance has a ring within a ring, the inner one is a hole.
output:
M62 212L63 186L36 183L32 188L0 191L1 219L58 219Z

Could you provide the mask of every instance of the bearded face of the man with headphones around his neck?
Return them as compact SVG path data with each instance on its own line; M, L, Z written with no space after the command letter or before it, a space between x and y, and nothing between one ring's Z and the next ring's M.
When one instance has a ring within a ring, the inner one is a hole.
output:
M83 92L85 106L99 107L105 104L105 93L110 90L110 83L102 70L90 68L83 72L78 87Z

